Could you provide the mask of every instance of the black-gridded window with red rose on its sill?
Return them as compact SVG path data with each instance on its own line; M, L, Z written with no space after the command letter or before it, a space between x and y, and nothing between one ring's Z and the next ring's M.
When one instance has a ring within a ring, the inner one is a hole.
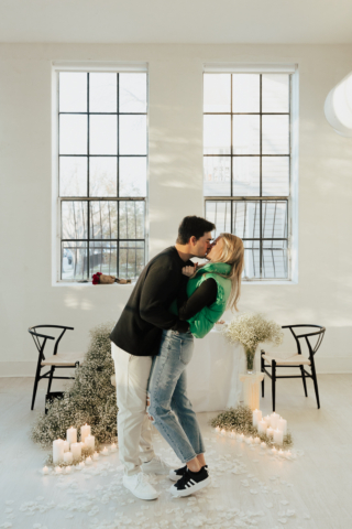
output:
M146 73L58 73L61 279L145 263Z

